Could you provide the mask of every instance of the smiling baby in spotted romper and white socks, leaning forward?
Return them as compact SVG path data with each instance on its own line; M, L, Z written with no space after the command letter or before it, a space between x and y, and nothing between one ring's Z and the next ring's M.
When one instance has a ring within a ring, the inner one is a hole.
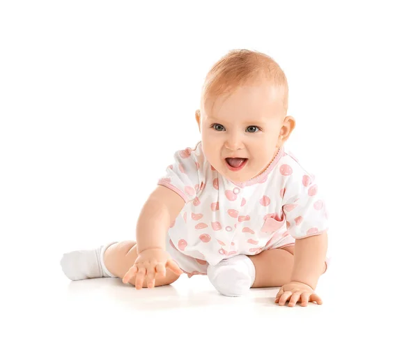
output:
M70 280L120 277L137 289L207 275L225 296L280 287L275 303L322 304L327 211L312 174L285 149L288 84L270 56L233 50L203 84L194 149L174 154L137 221L136 241L63 255Z

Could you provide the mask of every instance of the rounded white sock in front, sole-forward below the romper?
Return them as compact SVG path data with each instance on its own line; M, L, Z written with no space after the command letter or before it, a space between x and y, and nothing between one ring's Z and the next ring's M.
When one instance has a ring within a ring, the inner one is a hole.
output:
M256 279L256 268L247 255L236 255L208 266L208 278L224 296L242 296Z

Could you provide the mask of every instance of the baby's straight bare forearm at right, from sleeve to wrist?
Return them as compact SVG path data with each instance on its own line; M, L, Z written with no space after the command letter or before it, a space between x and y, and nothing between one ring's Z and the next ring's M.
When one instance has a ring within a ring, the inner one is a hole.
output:
M316 289L318 279L324 272L327 247L328 236L326 231L316 236L297 239L291 281L302 282L308 284L312 289Z

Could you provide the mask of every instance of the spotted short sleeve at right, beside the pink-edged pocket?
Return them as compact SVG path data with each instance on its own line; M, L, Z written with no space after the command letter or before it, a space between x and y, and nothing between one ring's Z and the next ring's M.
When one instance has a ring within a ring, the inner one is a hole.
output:
M295 239L327 231L325 200L313 174L299 169L289 176L285 184L283 212L288 233Z

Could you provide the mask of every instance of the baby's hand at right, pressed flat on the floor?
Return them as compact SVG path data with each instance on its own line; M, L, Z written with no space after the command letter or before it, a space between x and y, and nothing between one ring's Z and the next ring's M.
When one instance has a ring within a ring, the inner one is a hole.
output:
M302 282L290 282L281 286L274 303L279 303L280 306L283 306L288 298L290 298L288 306L291 307L295 306L299 301L301 301L302 306L307 306L309 301L316 301L319 305L322 304L322 300L315 294L314 289Z

